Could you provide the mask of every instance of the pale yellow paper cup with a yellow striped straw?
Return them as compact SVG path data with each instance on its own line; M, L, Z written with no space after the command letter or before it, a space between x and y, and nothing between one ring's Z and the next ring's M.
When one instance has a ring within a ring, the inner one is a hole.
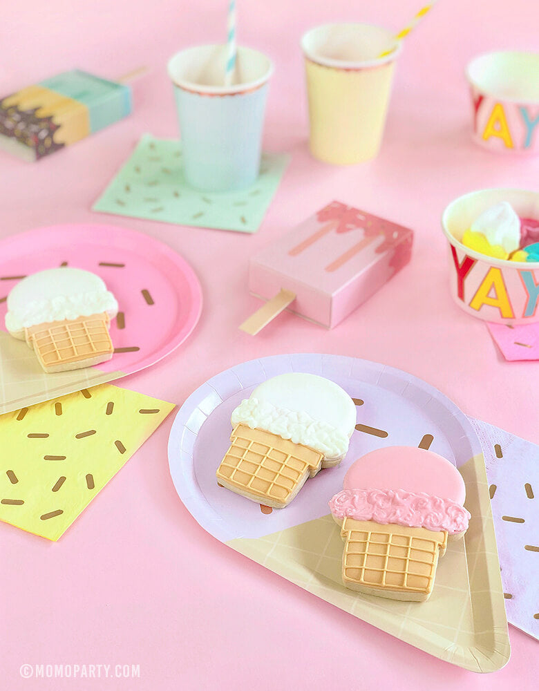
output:
M325 24L308 31L301 47L314 158L335 165L375 158L400 41L379 26Z

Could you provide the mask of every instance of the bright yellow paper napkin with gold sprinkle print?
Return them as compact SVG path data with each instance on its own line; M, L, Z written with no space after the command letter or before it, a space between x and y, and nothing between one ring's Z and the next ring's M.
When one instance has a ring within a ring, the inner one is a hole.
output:
M174 407L102 384L0 415L0 520L58 540Z

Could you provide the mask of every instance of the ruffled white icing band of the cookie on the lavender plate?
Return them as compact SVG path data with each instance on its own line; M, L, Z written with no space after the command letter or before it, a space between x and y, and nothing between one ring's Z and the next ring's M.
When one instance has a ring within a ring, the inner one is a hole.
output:
M313 419L308 413L277 408L267 401L249 398L241 401L231 416L233 426L245 424L303 444L323 453L325 460L338 460L348 451L348 436L325 422Z

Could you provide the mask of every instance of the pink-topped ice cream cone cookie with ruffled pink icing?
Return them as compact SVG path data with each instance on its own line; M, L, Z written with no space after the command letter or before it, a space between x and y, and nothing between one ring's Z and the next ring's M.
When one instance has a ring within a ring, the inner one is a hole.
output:
M330 500L345 542L345 587L428 600L448 537L468 528L465 496L457 468L432 451L388 446L359 458Z

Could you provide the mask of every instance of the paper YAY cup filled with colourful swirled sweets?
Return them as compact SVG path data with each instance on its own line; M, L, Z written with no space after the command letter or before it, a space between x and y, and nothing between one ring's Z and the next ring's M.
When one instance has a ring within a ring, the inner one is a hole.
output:
M499 202L509 202L520 218L539 219L539 193L525 189L481 189L445 209L451 296L477 319L511 325L539 321L539 262L495 259L462 244L477 216Z

